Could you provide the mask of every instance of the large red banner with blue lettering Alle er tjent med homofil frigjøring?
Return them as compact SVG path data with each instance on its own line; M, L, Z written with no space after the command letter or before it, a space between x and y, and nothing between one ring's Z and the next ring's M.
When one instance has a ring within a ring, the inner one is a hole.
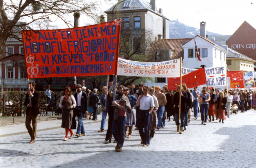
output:
M117 74L120 23L22 30L28 78Z

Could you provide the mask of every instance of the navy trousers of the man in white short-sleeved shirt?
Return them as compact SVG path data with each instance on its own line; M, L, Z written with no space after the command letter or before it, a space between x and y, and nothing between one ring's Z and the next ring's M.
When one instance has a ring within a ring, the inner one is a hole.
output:
M139 110L138 129L143 144L150 144L150 110Z

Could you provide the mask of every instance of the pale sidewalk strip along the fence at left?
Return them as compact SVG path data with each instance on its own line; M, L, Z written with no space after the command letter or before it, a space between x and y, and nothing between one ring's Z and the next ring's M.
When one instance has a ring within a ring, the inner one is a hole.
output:
M83 123L84 124L99 123L99 129L100 129L101 118L102 118L102 114L98 114L97 121L92 121L92 120L83 118ZM108 115L106 117L106 122L107 121L108 121ZM76 123L77 123L77 118L76 118ZM57 120L55 118L55 119L47 119L44 121L42 120L37 121L37 132L46 131L50 129L58 129L58 128L61 128L61 119ZM7 136L13 136L13 135L27 134L27 133L28 131L25 126L25 122L20 124L19 123L9 124L9 125L0 127L0 137L7 137Z

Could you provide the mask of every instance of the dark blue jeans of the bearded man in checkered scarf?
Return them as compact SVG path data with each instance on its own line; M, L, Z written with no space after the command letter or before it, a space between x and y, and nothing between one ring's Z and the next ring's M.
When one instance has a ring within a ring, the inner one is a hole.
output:
M125 123L126 116L118 116L117 120L113 120L112 123L112 134L119 147L123 147L125 141Z

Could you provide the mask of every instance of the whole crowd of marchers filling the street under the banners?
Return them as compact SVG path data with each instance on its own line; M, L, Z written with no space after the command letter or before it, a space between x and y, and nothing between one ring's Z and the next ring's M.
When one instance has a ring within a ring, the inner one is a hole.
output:
M139 83L139 89L135 94L130 94L129 88L122 85L117 87L116 83L117 81L111 82L109 89L103 86L100 97L97 94L98 89L86 90L86 87L80 84L76 85L77 92L74 95L71 94L69 87L64 88L59 102L62 112L61 127L66 131L64 141L68 140L69 133L69 139L73 136L85 136L83 118L96 121L101 109L102 120L98 132L104 132L108 115L104 143L111 143L113 135L117 152L122 151L125 138L131 138L133 126L134 130L139 131L140 143L146 147L150 144L156 130L165 128L166 120L171 121L171 116L177 126L177 132L183 134L188 129L192 113L194 113L194 120L197 120L198 113L201 113L201 124L206 125L207 122L214 120L224 123L226 116L229 118L231 113L238 113L239 110L240 112L251 108L256 110L256 91L254 93L239 89L229 91L210 89L209 91L207 87L203 87L200 92L197 87L194 87L190 92L186 84L177 86L174 91L168 90L167 84L161 89L160 86L149 87ZM34 88L35 83L30 82L30 91L24 102L27 105L26 127L31 137L29 143L35 141L39 114L39 92ZM50 86L47 86L45 95L51 98ZM72 129L76 129L76 133Z

